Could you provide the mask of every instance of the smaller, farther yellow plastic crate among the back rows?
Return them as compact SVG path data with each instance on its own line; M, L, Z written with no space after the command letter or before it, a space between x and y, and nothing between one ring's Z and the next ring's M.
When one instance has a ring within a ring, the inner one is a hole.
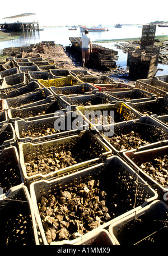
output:
M72 75L59 77L55 79L49 79L49 80L39 79L38 82L43 87L51 87L51 86L62 87L62 86L82 84L82 81L80 79L77 79Z

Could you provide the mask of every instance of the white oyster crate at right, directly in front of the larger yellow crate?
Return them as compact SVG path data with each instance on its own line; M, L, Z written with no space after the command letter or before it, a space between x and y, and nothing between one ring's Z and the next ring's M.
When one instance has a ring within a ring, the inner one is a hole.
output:
M150 116L142 116L136 120L105 125L102 126L102 129L100 128L97 125L95 126L95 129L99 130L101 138L115 154L121 155L127 150L145 150L145 148L158 147L162 143L168 143L168 127ZM105 132L109 136L105 135ZM136 135L136 133L138 134ZM124 135L128 136L130 141L125 139ZM113 136L115 139L113 139ZM135 141L134 136L141 138L141 141ZM110 141L110 139L113 140Z

